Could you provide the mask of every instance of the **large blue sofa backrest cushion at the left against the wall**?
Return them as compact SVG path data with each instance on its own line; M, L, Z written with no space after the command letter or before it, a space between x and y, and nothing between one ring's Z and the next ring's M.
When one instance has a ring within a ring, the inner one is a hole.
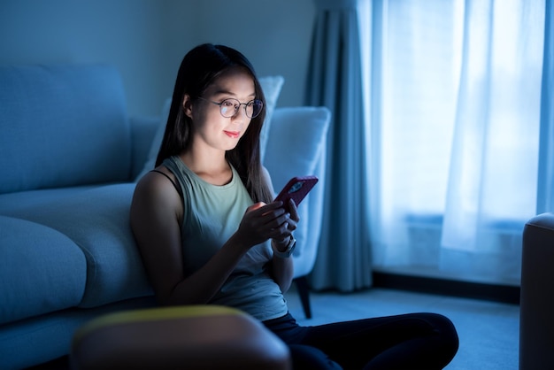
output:
M127 180L130 137L113 67L0 67L0 194Z

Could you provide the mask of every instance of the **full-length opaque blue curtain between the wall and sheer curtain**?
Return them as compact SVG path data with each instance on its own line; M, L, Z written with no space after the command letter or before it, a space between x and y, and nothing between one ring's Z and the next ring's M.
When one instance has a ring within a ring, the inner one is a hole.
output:
M312 289L372 284L366 132L356 0L315 0L306 104L332 112L326 195Z

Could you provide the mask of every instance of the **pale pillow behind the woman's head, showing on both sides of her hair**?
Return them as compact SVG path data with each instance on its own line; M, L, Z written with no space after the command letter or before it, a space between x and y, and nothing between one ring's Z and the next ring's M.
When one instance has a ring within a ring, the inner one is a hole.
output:
M281 88L284 83L284 78L282 76L266 76L259 79L259 83L264 90L265 95L265 121L262 131L260 133L260 158L264 158L265 155L265 145L267 143L267 136L269 135L269 127L271 125L271 119L273 116L273 111L275 105L277 104L277 99L281 93ZM136 176L135 181L139 181L145 173L149 172L156 165L156 158L158 157L159 147L162 144L164 139L165 125L167 124L167 117L169 117L169 110L171 108L171 97L165 100L164 106L162 107L162 112L160 115L160 120L158 124L158 130L152 138L152 143L150 145L150 152L148 158L142 171Z

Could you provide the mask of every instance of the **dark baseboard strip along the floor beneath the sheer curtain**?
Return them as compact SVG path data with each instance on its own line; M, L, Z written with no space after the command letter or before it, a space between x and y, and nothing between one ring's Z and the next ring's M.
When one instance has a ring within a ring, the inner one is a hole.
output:
M519 304L519 287L373 272L373 287Z

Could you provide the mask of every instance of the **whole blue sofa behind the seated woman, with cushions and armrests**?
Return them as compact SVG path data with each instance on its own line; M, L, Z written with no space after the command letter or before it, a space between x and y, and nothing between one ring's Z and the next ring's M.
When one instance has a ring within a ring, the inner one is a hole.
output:
M261 81L273 187L294 175L320 179L299 207L301 278L317 253L330 112L277 107L282 77ZM88 320L156 304L128 212L165 114L129 117L113 66L0 67L0 368L64 356Z

